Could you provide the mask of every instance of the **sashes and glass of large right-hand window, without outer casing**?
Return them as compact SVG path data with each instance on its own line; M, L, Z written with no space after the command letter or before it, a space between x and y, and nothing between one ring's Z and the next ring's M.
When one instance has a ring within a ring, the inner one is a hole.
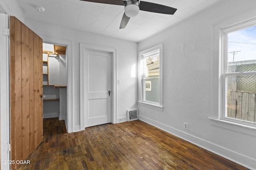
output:
M222 118L255 123L256 23L223 30Z

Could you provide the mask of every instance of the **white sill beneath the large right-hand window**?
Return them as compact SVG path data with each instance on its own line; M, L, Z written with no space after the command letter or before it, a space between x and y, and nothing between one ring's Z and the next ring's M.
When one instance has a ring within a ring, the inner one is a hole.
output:
M248 125L243 125L240 123L234 123L231 121L226 121L226 120L221 120L221 119L214 119L209 117L211 120L211 124L214 126L222 127L225 129L229 129L232 131L237 131L240 133L244 133L247 135L255 136L256 137L256 127L248 126Z

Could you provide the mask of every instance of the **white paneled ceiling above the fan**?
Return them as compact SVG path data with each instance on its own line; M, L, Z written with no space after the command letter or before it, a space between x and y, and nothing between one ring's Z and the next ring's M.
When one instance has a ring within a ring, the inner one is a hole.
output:
M80 0L17 0L27 19L80 29L129 41L141 41L220 0L144 0L177 8L174 15L140 11L119 29L124 6ZM36 6L45 8L44 12Z

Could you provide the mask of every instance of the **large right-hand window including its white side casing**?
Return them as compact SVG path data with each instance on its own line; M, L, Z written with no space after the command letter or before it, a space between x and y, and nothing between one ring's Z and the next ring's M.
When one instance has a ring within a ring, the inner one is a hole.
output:
M256 129L256 19L236 21L238 24L230 21L214 26L212 118L230 124L218 123L225 128Z

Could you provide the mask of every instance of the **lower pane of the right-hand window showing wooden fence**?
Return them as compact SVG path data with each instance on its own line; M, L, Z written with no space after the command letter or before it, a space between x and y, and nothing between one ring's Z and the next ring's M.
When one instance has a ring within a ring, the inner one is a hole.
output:
M227 76L225 117L256 122L256 75Z

